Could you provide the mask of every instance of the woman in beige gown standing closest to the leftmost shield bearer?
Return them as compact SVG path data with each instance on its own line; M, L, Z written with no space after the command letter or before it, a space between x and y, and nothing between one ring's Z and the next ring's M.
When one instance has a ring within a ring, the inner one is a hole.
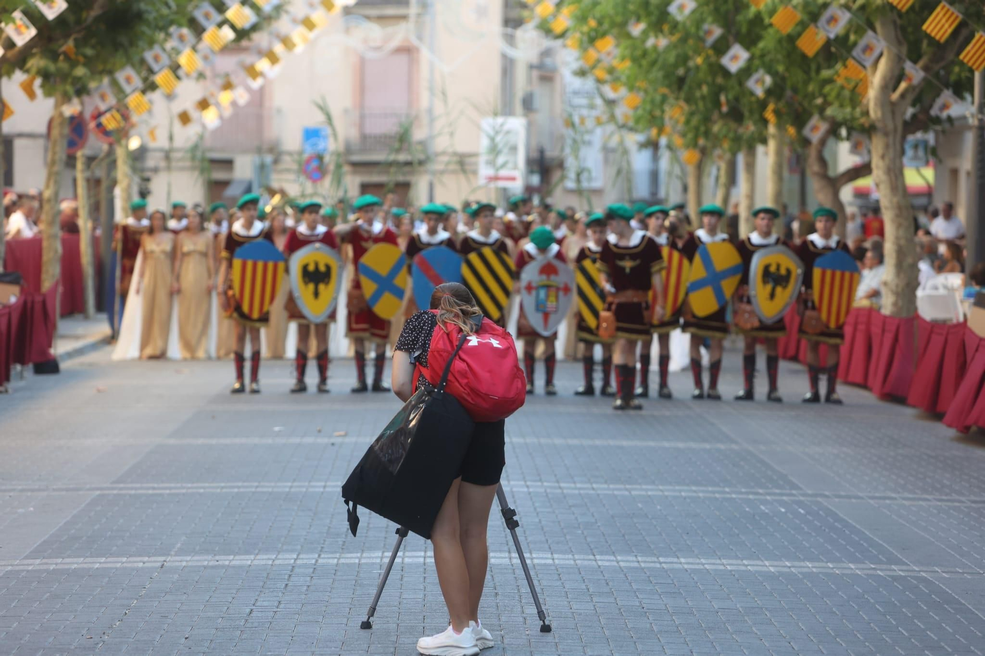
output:
M175 251L173 291L178 295L178 348L182 360L204 360L216 266L212 234L203 230L202 215L197 210L188 213L188 228L178 233Z

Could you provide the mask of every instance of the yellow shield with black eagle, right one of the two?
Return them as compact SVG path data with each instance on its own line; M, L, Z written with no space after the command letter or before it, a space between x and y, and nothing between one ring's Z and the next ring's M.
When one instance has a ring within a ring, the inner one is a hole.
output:
M804 263L786 246L768 246L753 254L749 295L753 309L763 323L782 319L797 300L803 284Z

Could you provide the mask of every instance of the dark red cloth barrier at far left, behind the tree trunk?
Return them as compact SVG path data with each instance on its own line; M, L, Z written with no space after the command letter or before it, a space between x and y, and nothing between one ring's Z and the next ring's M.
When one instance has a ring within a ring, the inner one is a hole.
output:
M79 235L62 234L61 257L61 315L86 311L86 295L82 285L82 254L79 252ZM93 238L93 256L99 271L99 240ZM14 239L7 242L4 270L17 271L24 277L28 292L41 291L41 237Z

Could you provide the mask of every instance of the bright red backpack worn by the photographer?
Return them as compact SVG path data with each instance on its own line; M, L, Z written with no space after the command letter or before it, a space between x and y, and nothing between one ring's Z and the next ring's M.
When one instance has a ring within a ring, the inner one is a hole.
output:
M429 311L437 314L437 310ZM434 328L427 368L417 367L431 385L437 386L461 338L462 329L458 326L448 324L442 328L438 324ZM479 330L465 337L465 344L452 361L445 390L476 422L498 422L519 410L527 400L527 380L513 337L483 317Z

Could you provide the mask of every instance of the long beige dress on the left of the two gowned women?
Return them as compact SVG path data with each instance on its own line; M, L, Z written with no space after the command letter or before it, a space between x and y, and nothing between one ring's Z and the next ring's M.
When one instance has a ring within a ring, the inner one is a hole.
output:
M143 313L140 332L140 357L164 358L167 332L171 324L171 272L174 235L166 232L159 238L144 237L144 282L141 286Z

